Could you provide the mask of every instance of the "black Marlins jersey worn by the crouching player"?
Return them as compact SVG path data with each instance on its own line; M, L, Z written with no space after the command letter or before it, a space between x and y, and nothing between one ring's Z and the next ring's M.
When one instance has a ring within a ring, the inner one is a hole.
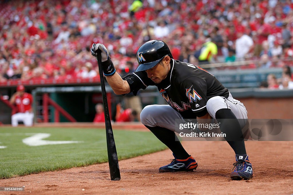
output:
M136 94L139 89L146 89L149 85L157 86L166 102L183 118L207 114L207 101L214 96L228 98L228 89L204 69L173 59L170 65L167 77L159 84L148 78L145 71L132 73L132 81L127 80L131 91Z

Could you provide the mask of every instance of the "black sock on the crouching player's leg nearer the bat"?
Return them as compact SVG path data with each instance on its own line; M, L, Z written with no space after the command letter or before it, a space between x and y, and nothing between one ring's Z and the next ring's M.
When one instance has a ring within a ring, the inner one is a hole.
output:
M146 126L163 144L165 144L178 159L186 159L190 155L185 151L175 132L164 127L149 127Z

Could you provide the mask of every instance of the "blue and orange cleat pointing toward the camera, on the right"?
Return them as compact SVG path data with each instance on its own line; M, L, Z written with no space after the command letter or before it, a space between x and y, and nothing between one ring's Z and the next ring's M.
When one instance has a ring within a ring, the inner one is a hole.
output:
M252 165L248 161L246 155L235 155L236 163L234 163L235 170L231 173L230 177L232 180L250 180L253 177ZM234 169L233 168L233 169Z

